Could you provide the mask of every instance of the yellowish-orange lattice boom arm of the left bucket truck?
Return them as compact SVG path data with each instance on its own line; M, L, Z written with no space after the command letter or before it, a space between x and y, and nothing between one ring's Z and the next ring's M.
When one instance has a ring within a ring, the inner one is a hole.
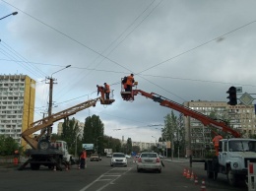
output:
M32 147L32 149L37 149L38 139L30 137L32 133L44 129L48 126L53 125L54 122L64 119L70 115L77 113L83 109L89 108L91 106L96 106L96 101L100 100L101 97L97 97L95 99L87 100L75 106L72 106L68 109L60 111L58 113L52 114L48 117L40 119L38 121L33 122L27 130L22 133L22 138Z

